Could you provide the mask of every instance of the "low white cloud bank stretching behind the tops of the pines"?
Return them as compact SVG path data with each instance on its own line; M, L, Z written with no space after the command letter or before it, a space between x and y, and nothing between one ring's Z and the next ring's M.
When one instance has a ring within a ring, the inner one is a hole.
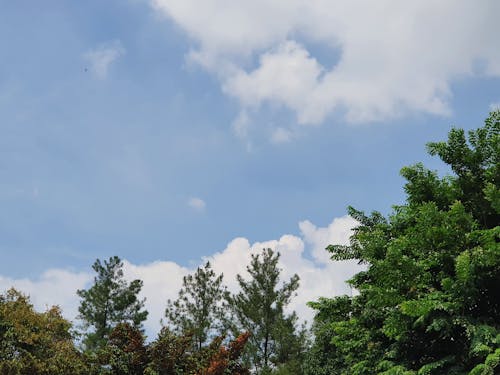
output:
M299 223L300 235L285 234L275 240L251 244L246 238L235 238L225 249L201 259L200 265L210 261L217 273L224 274L229 290L237 292L236 275L249 277L246 267L252 254L260 253L264 248L279 251L281 280L288 280L295 273L300 276L300 288L290 310L297 311L301 319L311 321L313 311L307 307L308 301L321 296L351 293L345 280L361 267L356 262L333 262L324 249L330 243L347 244L355 225L356 221L346 216L334 219L327 227L317 227L309 221L303 221ZM145 327L150 337L154 337L160 328L167 299L177 298L183 276L194 271L192 267L168 261L139 265L124 261L125 277L144 282L141 297L146 297L149 317ZM68 319L74 320L79 304L75 292L90 287L92 280L93 274L90 272L66 270L49 270L36 280L0 276L0 292L14 286L28 293L38 309L57 304Z

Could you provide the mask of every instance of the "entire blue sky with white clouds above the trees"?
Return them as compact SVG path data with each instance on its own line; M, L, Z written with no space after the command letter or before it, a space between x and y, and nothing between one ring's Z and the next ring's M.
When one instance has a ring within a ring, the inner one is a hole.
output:
M144 280L157 331L206 260L351 293L352 205L404 202L425 144L500 106L500 2L0 0L0 292L77 314L95 259Z

